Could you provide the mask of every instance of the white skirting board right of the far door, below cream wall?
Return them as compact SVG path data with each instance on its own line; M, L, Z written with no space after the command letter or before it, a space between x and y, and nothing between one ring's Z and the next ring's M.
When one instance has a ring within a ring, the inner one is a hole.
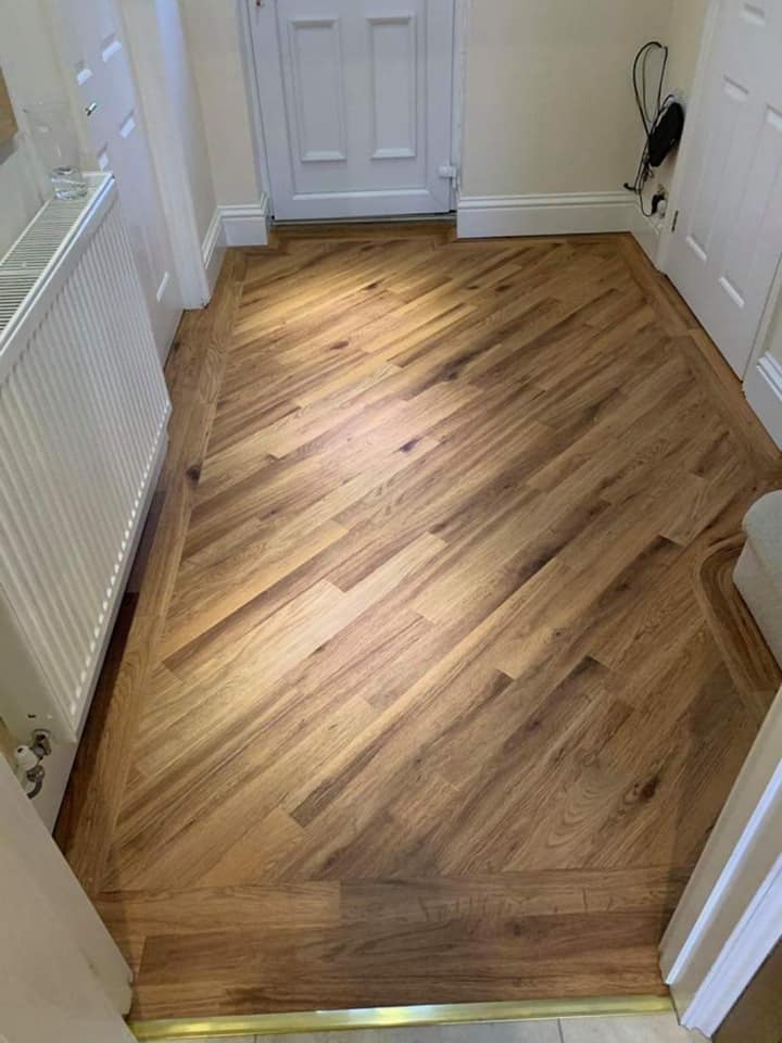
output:
M633 231L636 213L635 200L626 191L463 196L457 208L457 231L461 239Z

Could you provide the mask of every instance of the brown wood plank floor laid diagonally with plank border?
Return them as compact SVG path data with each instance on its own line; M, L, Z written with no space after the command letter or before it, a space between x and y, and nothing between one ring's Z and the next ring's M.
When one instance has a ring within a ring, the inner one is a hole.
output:
M118 819L60 833L137 1017L663 989L779 680L698 589L777 454L628 238L451 239L230 261Z

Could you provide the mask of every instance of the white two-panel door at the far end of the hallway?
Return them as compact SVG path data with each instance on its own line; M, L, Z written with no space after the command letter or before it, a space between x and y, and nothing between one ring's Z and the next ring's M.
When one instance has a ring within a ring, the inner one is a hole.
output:
M275 216L451 210L453 0L248 2Z

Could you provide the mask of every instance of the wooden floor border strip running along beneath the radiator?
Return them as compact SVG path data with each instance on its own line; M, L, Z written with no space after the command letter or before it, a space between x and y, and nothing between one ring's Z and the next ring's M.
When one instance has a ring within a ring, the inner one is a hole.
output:
M119 805L133 763L133 745L163 628L198 475L225 366L225 342L232 327L244 262L229 253L215 300L182 321L167 365L173 420L168 453L155 495L149 560L133 616L119 627L122 640L108 653L103 671L58 818L55 838L87 893L94 895L105 874Z

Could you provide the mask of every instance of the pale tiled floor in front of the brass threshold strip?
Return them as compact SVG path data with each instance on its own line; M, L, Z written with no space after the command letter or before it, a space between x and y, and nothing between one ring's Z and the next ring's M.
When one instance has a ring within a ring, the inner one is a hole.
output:
M569 1018L505 1021L422 1029L369 1029L313 1035L256 1036L257 1043L703 1043L679 1027L672 1014L631 1018ZM201 1041L192 1041L201 1043ZM203 1041L206 1043L206 1041ZM210 1041L215 1043L215 1041ZM254 1043L252 1038L231 1043Z

